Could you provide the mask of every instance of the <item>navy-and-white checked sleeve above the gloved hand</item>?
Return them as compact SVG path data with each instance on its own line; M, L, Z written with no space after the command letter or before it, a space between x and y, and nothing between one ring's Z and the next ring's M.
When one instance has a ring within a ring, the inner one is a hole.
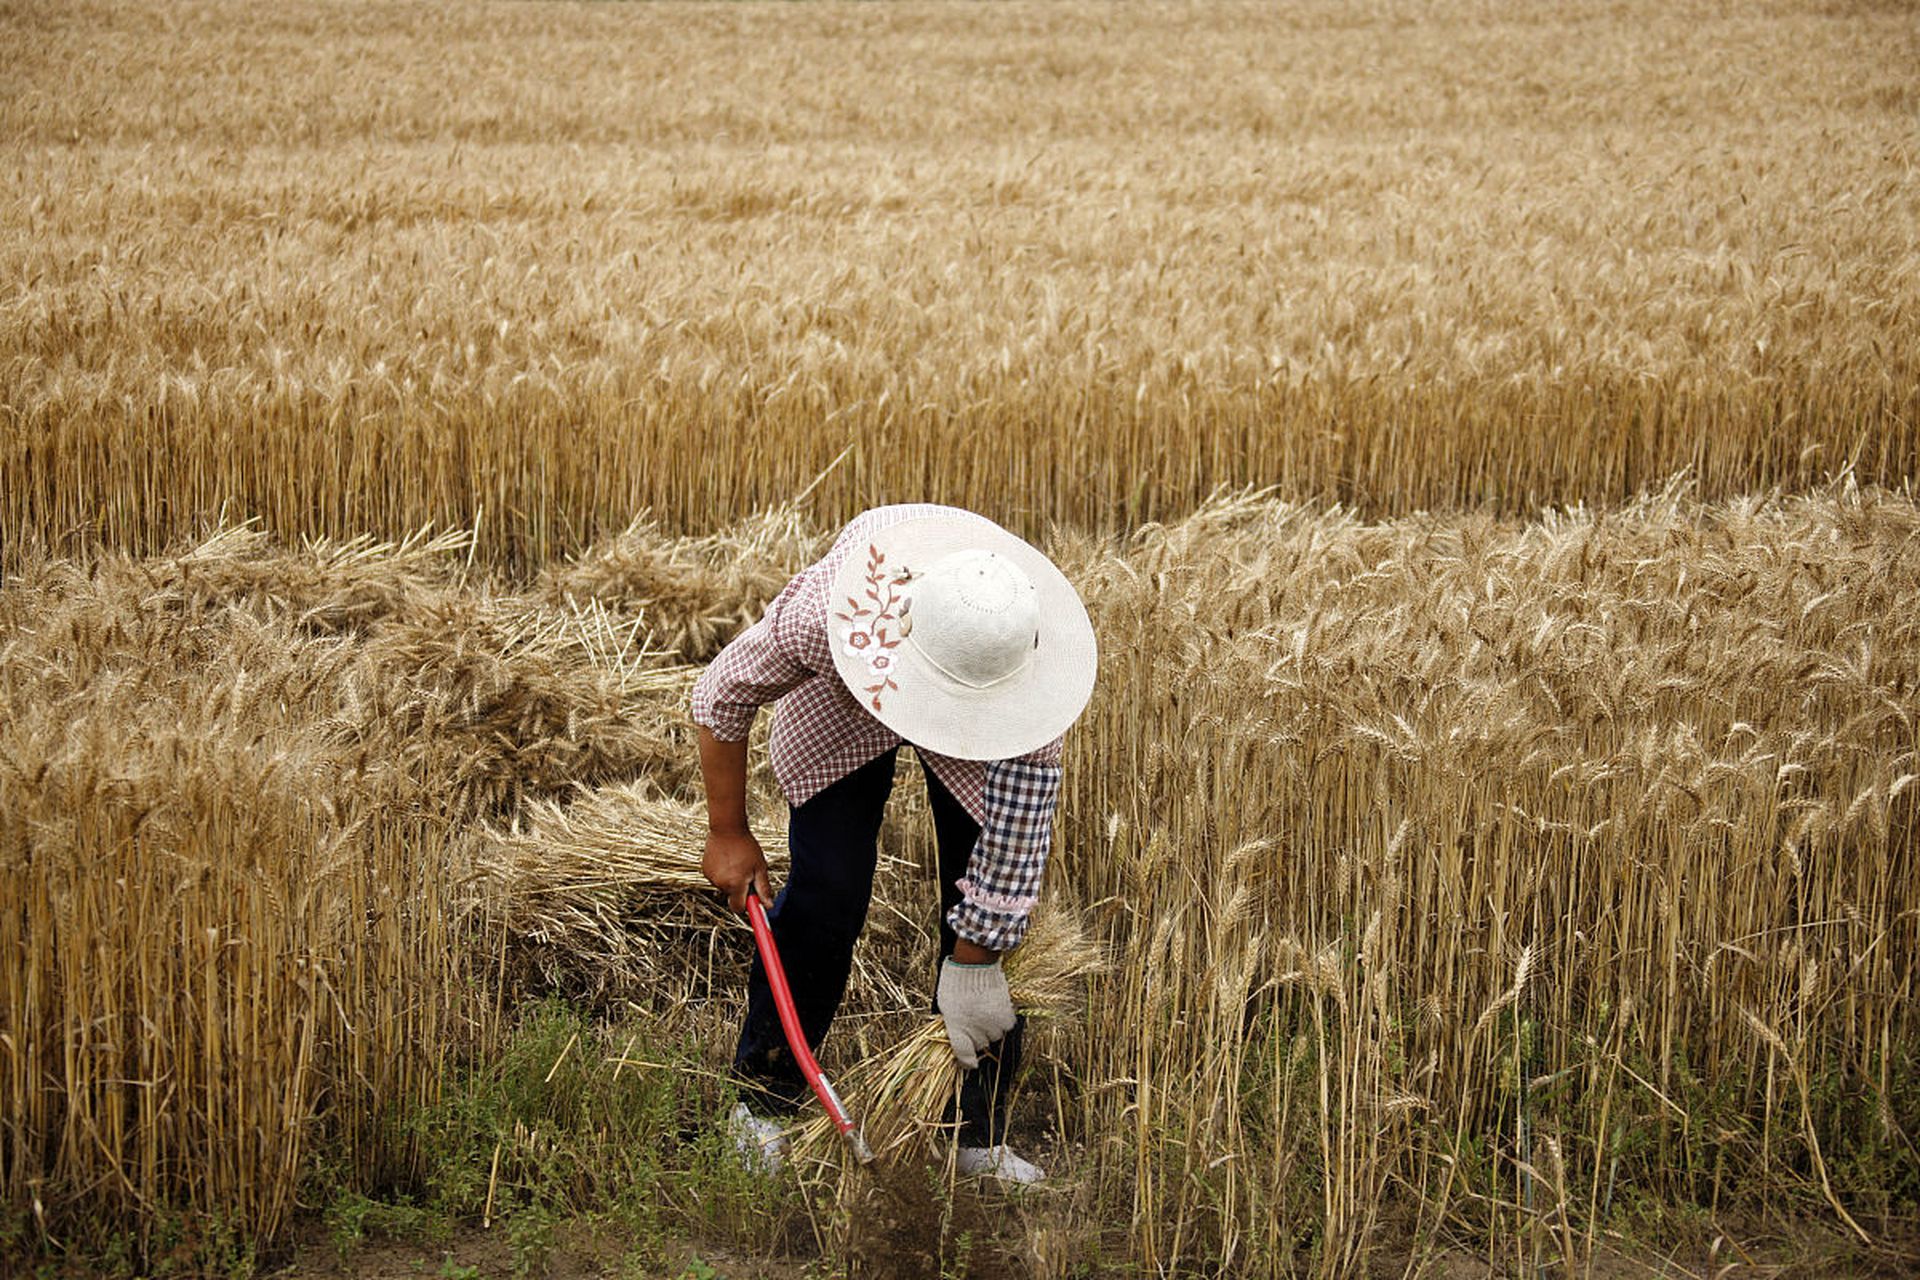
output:
M1054 842L1060 766L1031 758L987 766L985 821L947 923L968 942L1004 952L1027 936Z

